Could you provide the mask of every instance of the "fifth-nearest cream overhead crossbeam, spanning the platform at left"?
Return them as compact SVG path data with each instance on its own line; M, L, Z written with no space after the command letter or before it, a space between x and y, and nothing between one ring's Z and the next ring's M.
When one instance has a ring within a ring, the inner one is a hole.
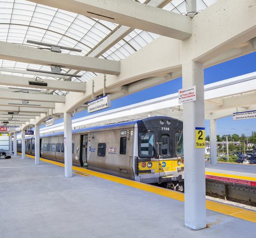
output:
M28 104L22 104L22 100L12 100L12 98L10 98L9 100L1 99L0 106L55 108L55 103L54 102L33 102L33 101L30 102L30 101L28 101Z

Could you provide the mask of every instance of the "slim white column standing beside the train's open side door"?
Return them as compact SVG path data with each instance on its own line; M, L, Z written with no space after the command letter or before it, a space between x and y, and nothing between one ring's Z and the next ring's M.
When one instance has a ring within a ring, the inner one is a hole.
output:
M64 163L65 177L72 177L72 119L70 112L64 112Z

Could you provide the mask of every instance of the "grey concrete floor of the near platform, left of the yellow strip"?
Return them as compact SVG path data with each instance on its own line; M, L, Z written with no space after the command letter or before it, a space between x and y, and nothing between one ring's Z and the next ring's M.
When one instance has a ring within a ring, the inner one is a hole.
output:
M0 160L1 238L244 238L256 224L207 210L209 228L184 227L184 203L20 156Z

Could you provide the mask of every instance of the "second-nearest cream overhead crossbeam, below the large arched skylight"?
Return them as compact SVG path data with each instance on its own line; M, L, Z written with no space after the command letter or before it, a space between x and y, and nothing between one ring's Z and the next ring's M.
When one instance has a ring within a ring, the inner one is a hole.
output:
M0 58L98 73L114 75L120 73L119 61L55 53L9 42L0 42Z

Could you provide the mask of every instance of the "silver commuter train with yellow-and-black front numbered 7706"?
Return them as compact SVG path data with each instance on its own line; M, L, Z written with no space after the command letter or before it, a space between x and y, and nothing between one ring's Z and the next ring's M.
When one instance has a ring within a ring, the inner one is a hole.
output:
M40 156L64 163L64 133L40 136ZM35 139L25 140L35 154ZM21 152L21 140L17 140ZM183 122L154 116L72 130L74 166L164 187L184 189Z

